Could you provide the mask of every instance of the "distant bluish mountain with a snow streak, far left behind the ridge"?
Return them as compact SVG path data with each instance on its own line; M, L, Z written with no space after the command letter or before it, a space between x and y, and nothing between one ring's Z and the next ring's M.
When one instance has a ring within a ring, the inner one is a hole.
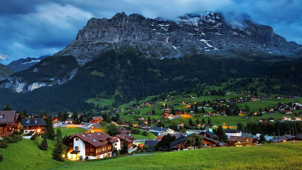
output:
M30 58L30 57L27 57L26 59L20 58L19 60L12 61L10 64L7 65L7 67L16 73L18 71L28 69L29 67L37 64L38 62L49 56L50 55L43 55L39 58Z

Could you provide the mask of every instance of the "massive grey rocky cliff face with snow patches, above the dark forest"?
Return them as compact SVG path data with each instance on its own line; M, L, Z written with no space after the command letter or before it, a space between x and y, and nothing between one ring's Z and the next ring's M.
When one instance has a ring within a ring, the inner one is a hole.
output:
M118 13L111 19L91 18L76 40L54 55L73 55L86 63L104 51L136 51L141 57L171 58L186 54L246 51L294 54L301 45L287 42L265 25L246 20L229 26L217 12L184 15L175 21Z

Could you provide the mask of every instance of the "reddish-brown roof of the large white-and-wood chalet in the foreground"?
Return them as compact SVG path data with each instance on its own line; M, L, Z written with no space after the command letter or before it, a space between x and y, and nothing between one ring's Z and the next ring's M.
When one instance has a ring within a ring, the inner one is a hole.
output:
M99 146L103 146L103 145L107 145L104 140L108 140L108 142L110 143L115 143L118 142L118 140L114 139L113 137L107 135L104 132L92 132L92 133L80 133L80 134L73 134L70 135L66 141L69 141L75 137L78 137L80 139L82 139L85 142L88 142L90 144L92 144L95 147L99 147ZM66 142L65 141L65 142Z

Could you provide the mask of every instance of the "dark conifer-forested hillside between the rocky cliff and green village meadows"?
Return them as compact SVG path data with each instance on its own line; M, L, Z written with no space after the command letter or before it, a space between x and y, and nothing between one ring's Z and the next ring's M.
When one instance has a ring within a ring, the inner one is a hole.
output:
M73 57L68 57L68 62L61 58L48 57L47 60L48 63L64 65L63 71L53 65L44 66L49 69L43 74L52 76L58 74L60 77L78 67ZM0 106L4 107L9 103L14 110L26 108L28 113L39 113L40 110L48 113L76 109L83 111L95 108L94 104L85 102L91 97L113 98L114 105L118 105L133 99L141 100L149 95L194 88L199 83L211 85L239 77L278 77L279 82L270 82L267 79L266 82L262 82L268 83L266 93L298 95L302 92L301 75L297 74L301 72L299 72L301 59L288 60L285 57L284 60L268 62L267 58L259 57L257 60L255 58L246 61L238 58L210 58L198 54L159 60L137 57L131 52L120 54L109 51L79 67L77 74L66 83L41 87L27 93L13 93L9 89L0 89L0 93L3 94L0 96ZM32 82L37 80L36 76L43 78L43 74L32 73L29 70L18 74L28 75L27 81ZM273 83L283 85L274 90L270 88L269 83L272 83L272 87ZM243 85L234 83L226 90L242 88Z

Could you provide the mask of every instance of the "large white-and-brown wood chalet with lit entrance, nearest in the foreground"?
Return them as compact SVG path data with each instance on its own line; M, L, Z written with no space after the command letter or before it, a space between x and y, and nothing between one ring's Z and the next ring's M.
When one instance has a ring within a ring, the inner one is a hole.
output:
M82 156L88 159L111 157L112 144L117 139L104 132L81 133L70 135L63 143L67 145L67 158L78 159Z

